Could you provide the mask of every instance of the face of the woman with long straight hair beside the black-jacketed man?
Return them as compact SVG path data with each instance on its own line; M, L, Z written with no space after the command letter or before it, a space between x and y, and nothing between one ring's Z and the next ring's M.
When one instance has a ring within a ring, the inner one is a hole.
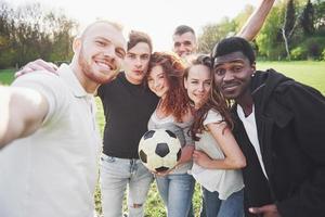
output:
M211 73L206 65L193 65L184 78L188 98L199 108L208 99L211 89Z

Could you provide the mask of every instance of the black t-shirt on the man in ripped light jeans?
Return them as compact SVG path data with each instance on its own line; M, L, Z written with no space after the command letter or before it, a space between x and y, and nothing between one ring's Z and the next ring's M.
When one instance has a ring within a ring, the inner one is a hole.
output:
M102 85L98 94L106 120L104 154L139 158L139 141L147 131L147 122L156 108L158 98L144 85L129 82L123 72L112 82Z

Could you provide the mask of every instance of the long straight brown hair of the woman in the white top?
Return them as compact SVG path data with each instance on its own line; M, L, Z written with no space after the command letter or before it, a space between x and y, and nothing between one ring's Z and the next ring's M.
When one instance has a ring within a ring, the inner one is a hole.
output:
M194 113L194 122L191 127L191 136L195 141L198 141L199 138L196 136L196 133L200 133L205 129L204 120L206 119L208 112L210 110L218 112L222 116L222 120L220 120L220 123L225 122L226 125L231 129L233 128L234 123L231 118L229 103L226 102L226 100L224 99L222 93L219 91L219 88L217 87L217 85L214 82L213 74L211 71L211 67L212 67L211 58L208 55L198 55L196 59L194 59L190 63L191 63L191 65L185 69L185 73L184 73L185 79L187 79L188 72L192 66L205 65L209 68L211 80L212 80L210 94L209 94L207 102Z

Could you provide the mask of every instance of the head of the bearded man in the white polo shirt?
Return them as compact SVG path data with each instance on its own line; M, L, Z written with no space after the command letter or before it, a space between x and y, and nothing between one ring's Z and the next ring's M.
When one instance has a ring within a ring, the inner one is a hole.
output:
M82 74L95 84L113 80L126 55L126 41L114 25L98 22L74 41Z

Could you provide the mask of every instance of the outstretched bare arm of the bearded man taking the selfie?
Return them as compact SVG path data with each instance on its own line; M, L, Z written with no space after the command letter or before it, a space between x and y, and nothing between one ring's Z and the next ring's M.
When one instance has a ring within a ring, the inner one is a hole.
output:
M0 149L34 133L49 112L46 98L28 88L0 87Z

